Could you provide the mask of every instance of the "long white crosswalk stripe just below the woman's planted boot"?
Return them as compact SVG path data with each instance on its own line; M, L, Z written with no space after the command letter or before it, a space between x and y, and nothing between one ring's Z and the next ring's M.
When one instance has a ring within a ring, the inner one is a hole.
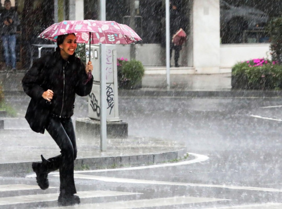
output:
M182 204L195 204L224 201L226 199L204 198L204 197L168 197L168 198L155 198L155 199L142 199L142 200L130 200L130 201L117 201L109 203L94 203L94 204L80 204L75 208L103 208L103 209L131 209L131 208L146 208L146 207L162 207ZM66 207L56 207L66 208ZM73 208L73 207L72 207ZM53 209L53 208L45 208Z

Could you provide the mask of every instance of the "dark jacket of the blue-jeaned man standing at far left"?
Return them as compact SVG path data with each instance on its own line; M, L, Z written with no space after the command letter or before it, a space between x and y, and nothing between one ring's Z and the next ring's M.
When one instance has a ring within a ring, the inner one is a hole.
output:
M11 18L11 25L5 25L4 21ZM10 10L0 10L0 35L13 35L17 32L17 26L20 24L17 11L11 8Z

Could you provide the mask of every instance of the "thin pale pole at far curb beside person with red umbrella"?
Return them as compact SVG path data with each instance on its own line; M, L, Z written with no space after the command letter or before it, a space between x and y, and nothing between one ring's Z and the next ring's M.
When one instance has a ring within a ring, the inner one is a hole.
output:
M170 36L169 36L169 0L166 0L166 86L167 90L170 89L170 56L169 56L169 45L170 45Z

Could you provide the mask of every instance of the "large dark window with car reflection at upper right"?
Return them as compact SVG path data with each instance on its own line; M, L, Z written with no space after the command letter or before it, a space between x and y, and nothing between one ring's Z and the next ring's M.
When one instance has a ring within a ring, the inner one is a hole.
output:
M220 0L221 43L268 43L265 26L281 16L281 6L276 0Z

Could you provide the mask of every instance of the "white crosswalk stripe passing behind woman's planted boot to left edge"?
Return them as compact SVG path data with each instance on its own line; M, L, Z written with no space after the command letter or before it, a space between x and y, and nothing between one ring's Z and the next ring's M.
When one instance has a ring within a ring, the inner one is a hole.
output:
M122 195L136 195L136 194L142 194L142 193L103 191L103 190L77 192L77 195L80 198L109 197L109 196L122 196ZM1 197L0 205L57 201L58 197L59 197L59 193Z

